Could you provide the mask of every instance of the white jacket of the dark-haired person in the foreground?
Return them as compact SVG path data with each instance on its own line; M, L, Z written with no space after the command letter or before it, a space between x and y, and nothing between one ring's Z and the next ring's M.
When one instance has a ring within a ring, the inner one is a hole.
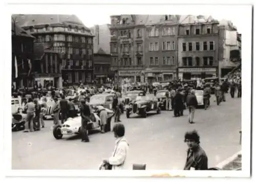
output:
M129 163L129 143L125 137L116 139L114 152L109 158L109 163L113 165L112 170L130 169L132 165ZM115 155L115 156L114 156Z

